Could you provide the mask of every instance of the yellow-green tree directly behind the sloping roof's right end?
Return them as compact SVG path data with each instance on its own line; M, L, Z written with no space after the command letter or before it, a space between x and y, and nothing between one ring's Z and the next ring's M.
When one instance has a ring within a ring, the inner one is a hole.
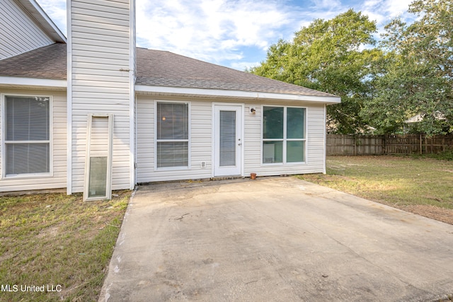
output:
M250 71L340 96L342 103L328 106L328 124L338 133L360 132L367 127L359 112L372 94L372 62L382 56L380 50L365 49L375 44L376 31L374 22L352 9L328 21L316 19L291 42L272 45L265 61Z

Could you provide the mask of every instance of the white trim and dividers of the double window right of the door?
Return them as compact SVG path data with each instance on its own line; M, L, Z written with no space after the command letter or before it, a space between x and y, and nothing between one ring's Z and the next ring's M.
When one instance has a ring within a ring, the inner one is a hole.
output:
M264 122L264 108L265 107L277 107L277 108L283 108L283 139L263 139L263 133L264 133L264 127L263 127L263 122ZM305 109L305 118L304 118L304 139L287 139L287 108L301 108ZM307 151L307 136L308 136L308 108L304 106L292 106L292 105L261 105L261 133L260 133L260 141L261 141L261 146L260 146L260 165L261 166L272 166L272 165L306 165L307 161L306 158L308 157ZM263 163L263 142L264 141L282 141L283 145L283 158L282 158L282 163ZM299 162L287 162L287 141L304 141L304 160L305 161L299 161Z

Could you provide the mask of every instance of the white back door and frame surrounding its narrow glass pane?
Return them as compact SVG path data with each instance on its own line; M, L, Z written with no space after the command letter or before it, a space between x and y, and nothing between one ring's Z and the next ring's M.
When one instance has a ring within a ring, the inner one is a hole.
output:
M219 118L220 110L236 110L236 168L219 167ZM244 105L240 103L212 103L212 176L243 176L244 158ZM239 140L240 139L240 140ZM240 144L240 145L238 145Z

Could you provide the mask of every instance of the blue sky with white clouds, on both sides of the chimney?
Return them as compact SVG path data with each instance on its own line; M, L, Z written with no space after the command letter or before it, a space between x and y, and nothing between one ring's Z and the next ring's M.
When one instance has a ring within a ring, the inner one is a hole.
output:
M66 0L37 0L66 33ZM316 18L330 19L349 8L377 21L411 18L413 0L136 0L137 46L168 50L244 70L263 61L279 39Z

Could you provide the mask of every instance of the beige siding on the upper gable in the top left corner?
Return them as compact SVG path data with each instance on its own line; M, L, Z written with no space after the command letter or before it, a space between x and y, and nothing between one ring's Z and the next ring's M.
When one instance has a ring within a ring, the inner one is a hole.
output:
M0 59L52 43L52 39L16 1L0 1Z

